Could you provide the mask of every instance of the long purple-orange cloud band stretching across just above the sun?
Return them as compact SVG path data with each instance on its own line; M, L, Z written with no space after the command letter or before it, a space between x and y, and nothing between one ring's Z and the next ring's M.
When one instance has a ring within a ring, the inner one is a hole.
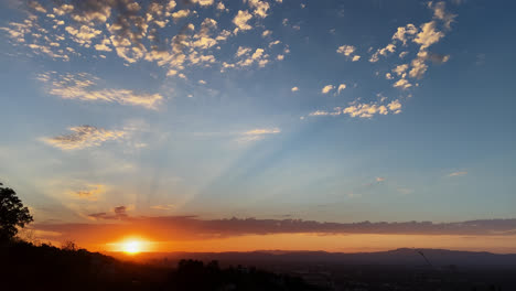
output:
M101 234L105 239L138 230L160 240L219 238L243 235L273 234L380 234L380 235L453 235L453 236L514 236L516 219L467 220L456 223L432 222L361 222L320 223L302 219L201 219L196 216L131 217L125 206L110 213L90 214L100 224L37 224L35 229L63 234L64 237L87 239ZM109 223L116 222L120 223Z

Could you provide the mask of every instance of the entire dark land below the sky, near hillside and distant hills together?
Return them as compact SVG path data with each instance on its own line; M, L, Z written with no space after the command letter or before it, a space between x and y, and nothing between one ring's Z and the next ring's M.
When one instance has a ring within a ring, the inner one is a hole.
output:
M515 256L488 252L175 252L141 254L139 262L117 257L74 244L10 241L0 246L0 290L516 290Z

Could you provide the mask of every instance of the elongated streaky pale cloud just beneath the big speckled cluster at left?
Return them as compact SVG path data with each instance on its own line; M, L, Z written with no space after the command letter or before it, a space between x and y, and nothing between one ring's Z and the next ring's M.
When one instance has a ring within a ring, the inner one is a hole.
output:
M105 101L158 109L163 100L160 94L137 94L128 89L96 89L97 77L89 74L66 74L54 76L41 74L40 80L47 83L49 93L63 99Z

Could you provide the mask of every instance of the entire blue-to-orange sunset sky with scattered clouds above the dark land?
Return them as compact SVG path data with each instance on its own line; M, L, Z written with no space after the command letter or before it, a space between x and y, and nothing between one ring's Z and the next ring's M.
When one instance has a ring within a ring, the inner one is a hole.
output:
M2 0L0 181L92 249L516 252L515 8Z

